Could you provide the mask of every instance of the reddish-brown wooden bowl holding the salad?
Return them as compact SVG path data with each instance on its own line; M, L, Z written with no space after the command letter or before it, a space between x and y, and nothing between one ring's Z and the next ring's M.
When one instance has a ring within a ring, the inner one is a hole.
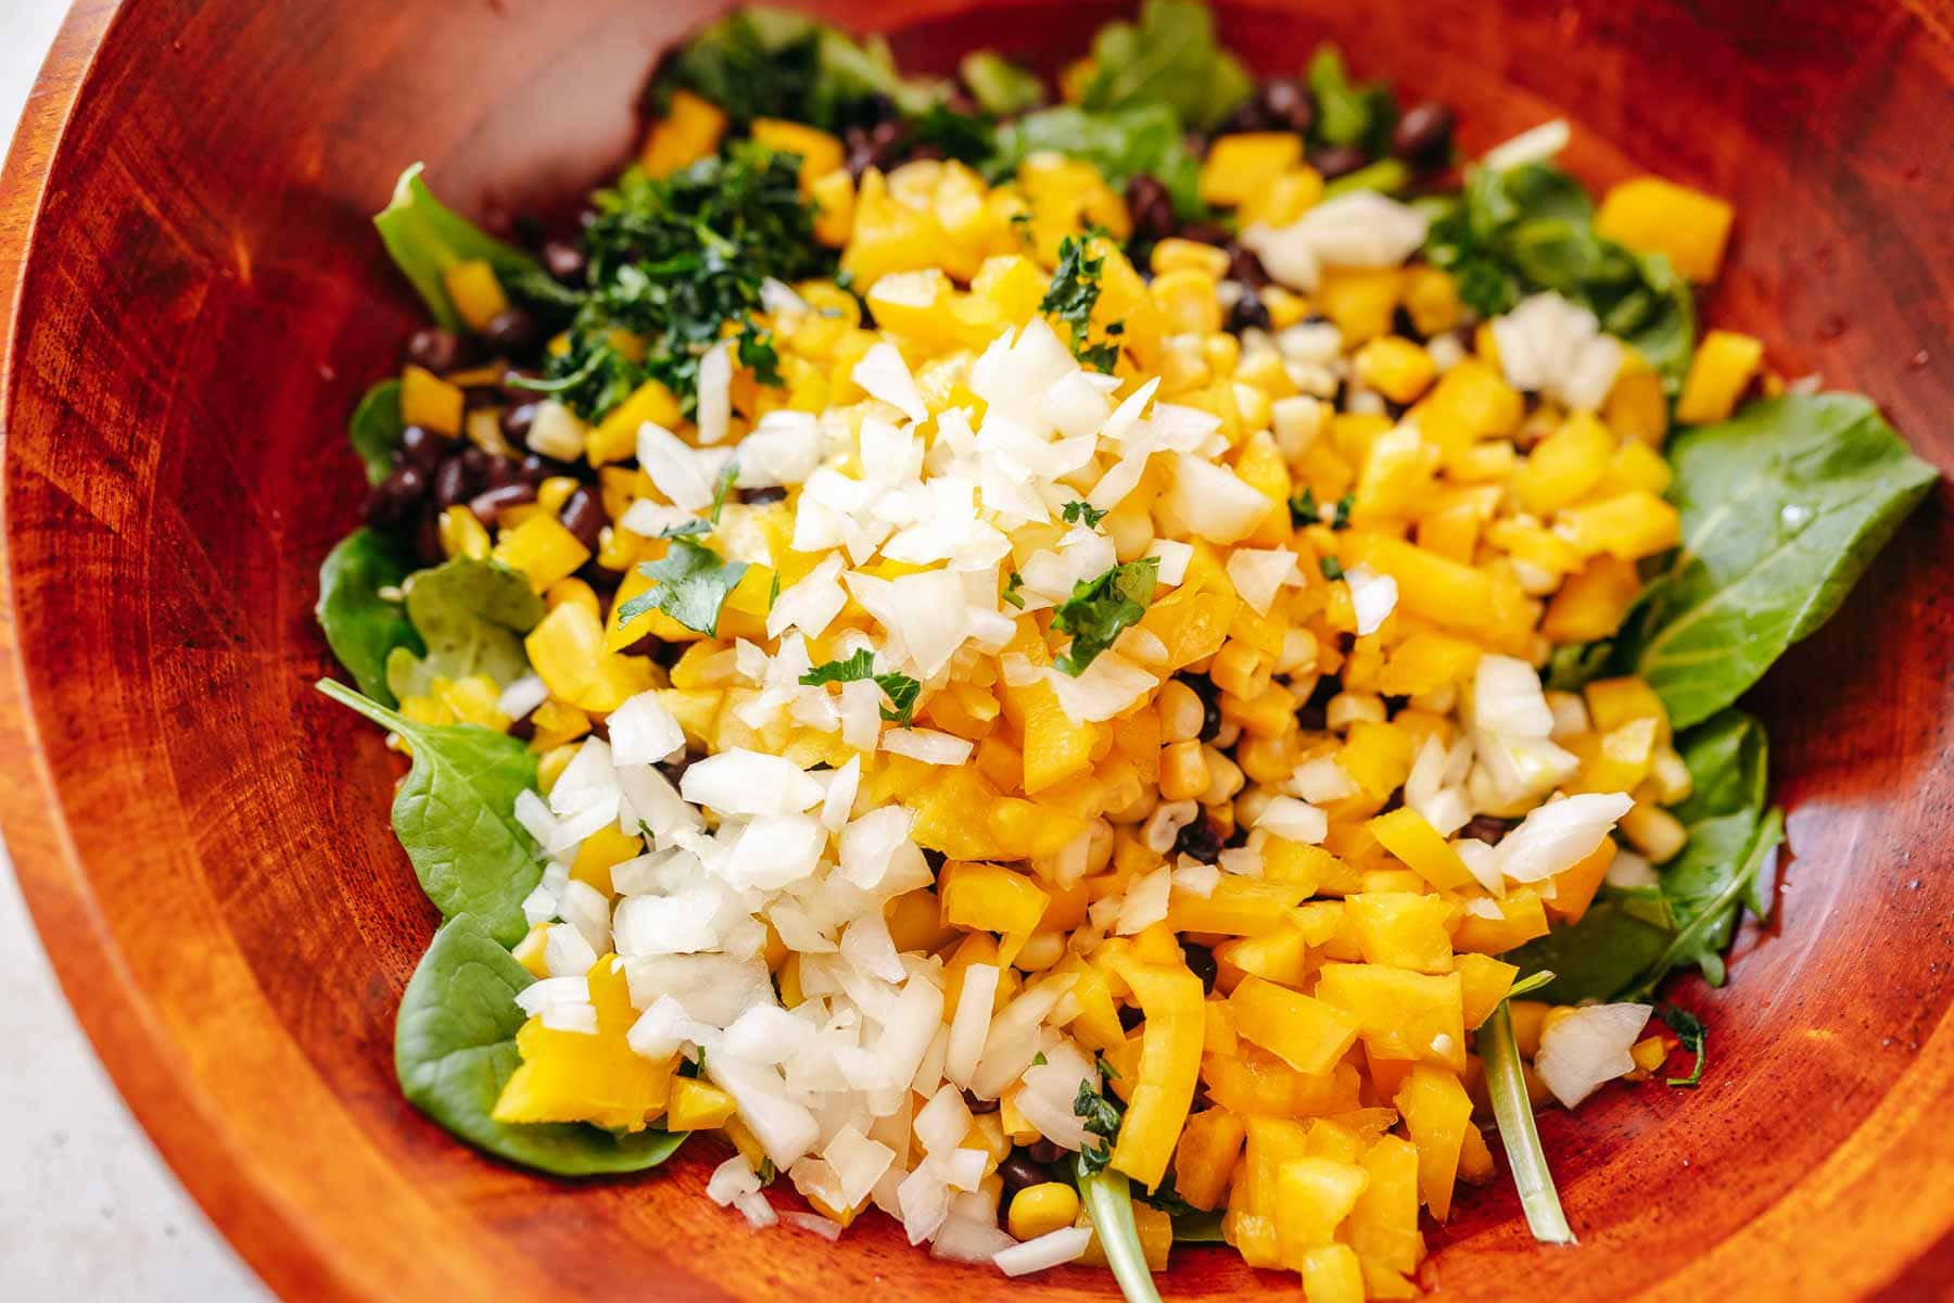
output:
M428 160L475 215L574 193L717 4L82 0L0 182L0 817L68 998L190 1192L291 1299L1110 1297L1006 1282L868 1217L828 1244L703 1198L723 1151L565 1184L401 1098L393 1014L434 930L387 824L397 762L313 692L317 567L358 518L344 422L418 307L367 217ZM1041 63L1112 4L856 0L946 70ZM1260 72L1321 39L1462 109L1477 152L1569 115L1567 162L1729 195L1712 320L1870 393L1954 471L1946 0L1223 6ZM1550 1112L1583 1244L1510 1186L1432 1233L1446 1299L1954 1297L1954 492L1751 705L1792 856L1700 1090ZM12 1047L12 1053L31 1047ZM1296 1295L1178 1248L1168 1297Z

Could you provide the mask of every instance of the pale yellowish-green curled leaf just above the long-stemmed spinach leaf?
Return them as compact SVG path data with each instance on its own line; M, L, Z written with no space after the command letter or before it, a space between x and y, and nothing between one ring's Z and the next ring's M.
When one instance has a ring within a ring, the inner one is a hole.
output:
M496 561L453 557L416 570L403 586L426 656L397 647L387 656L387 688L406 699L426 695L434 680L487 674L506 688L530 670L522 635L543 617L530 580Z

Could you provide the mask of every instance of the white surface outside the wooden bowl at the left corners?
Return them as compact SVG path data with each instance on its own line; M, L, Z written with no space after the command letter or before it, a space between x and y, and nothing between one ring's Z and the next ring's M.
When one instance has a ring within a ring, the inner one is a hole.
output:
M0 0L0 143L64 0ZM68 1012L0 850L0 1297L242 1303L270 1293L156 1156Z

